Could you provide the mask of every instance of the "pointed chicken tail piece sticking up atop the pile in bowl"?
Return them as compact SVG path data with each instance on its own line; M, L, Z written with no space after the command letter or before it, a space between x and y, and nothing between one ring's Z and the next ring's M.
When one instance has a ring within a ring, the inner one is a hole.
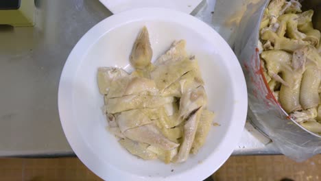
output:
M150 46L150 36L147 28L143 27L141 33L136 38L132 53L130 54L130 64L135 69L144 70L150 66L153 56L152 47Z

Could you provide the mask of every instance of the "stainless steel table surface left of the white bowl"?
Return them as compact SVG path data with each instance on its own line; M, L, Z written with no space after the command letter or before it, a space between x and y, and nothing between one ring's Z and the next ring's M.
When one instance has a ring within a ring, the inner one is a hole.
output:
M38 0L35 27L0 26L0 156L72 154L58 81L69 52L110 16L98 0Z

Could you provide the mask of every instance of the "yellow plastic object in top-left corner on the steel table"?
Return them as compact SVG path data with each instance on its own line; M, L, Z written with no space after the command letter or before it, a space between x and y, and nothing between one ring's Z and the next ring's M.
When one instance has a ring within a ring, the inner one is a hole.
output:
M34 0L21 0L20 7L17 10L0 10L0 25L33 26L34 12Z

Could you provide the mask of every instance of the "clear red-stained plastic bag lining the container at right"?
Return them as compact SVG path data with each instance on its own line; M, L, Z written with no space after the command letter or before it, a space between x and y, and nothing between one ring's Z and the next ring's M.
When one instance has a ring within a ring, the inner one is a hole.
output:
M290 119L272 95L263 75L257 43L261 16L268 3L248 3L235 31L234 50L248 86L248 119L272 139L282 154L303 161L321 153L321 136L303 130ZM321 16L321 12L317 16Z

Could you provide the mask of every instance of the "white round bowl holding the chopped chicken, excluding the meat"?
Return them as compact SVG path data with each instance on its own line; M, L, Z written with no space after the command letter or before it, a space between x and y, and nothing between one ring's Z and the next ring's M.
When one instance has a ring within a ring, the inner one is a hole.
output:
M129 154L106 131L99 95L98 67L130 69L134 40L146 25L153 59L174 40L187 40L187 51L198 58L209 110L216 113L207 141L181 164L165 165ZM105 180L203 180L233 152L246 121L246 83L235 54L217 32L193 16L145 8L110 16L90 29L75 45L60 78L58 106L64 134L84 164Z

